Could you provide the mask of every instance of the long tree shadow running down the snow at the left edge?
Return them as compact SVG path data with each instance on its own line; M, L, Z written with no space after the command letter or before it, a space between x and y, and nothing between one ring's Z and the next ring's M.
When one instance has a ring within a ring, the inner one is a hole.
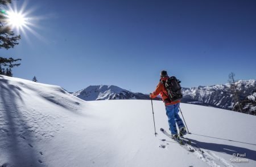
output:
M28 131L26 120L20 113L18 101L24 104L20 92L22 89L12 85L8 80L0 75L0 119L1 131L0 140L6 145L5 154L10 162L6 164L15 164L19 166L37 166L35 147L31 133ZM26 134L26 138L23 136ZM24 145L27 147L24 149ZM3 151L1 151L3 153ZM1 164L0 164L1 165ZM5 164L3 164L5 165Z

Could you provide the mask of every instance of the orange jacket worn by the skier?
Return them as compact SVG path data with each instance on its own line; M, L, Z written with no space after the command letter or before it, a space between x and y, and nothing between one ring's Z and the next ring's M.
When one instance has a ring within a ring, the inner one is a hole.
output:
M168 78L169 78L169 77L166 76L166 77L160 79L159 84L157 85L155 91L150 95L150 97L151 97L152 99L154 99L156 96L158 96L158 95L160 94L160 96L162 97L162 100L164 101L164 104L165 104L165 105L177 104L177 103L180 102L180 100L168 102L168 99L169 99L168 93L167 93L166 88L164 88L164 85L163 85L163 83L162 83L162 80L163 80L163 81L166 81Z

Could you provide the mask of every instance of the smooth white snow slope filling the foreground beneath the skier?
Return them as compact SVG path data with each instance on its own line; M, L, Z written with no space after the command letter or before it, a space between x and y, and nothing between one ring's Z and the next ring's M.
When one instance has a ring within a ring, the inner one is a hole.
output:
M54 85L0 75L0 165L3 166L256 166L256 117L181 104L204 153L191 153L168 130L161 101L82 101ZM163 141L163 139L166 139ZM249 162L233 163L233 153Z

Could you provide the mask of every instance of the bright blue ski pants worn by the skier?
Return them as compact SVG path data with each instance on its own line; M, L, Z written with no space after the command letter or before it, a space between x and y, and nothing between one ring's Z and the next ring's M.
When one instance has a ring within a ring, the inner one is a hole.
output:
M166 115L168 117L170 131L173 135L177 134L176 123L177 123L177 126L179 127L179 129L184 127L183 121L182 121L182 119L180 119L180 116L178 114L179 106L180 106L180 103L166 106Z

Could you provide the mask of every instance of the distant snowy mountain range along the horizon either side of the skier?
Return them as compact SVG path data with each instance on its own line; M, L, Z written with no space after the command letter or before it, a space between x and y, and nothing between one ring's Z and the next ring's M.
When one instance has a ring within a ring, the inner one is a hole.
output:
M252 97L253 92L256 88L256 80L238 80L236 84L238 90L241 92L241 99L246 99L247 96ZM181 102L213 106L223 109L232 109L234 105L232 102L233 95L230 93L229 88L229 83L183 88L183 99L181 100ZM126 89L119 88L115 85L93 85L72 94L86 101L115 99L150 99L148 95L127 91Z

